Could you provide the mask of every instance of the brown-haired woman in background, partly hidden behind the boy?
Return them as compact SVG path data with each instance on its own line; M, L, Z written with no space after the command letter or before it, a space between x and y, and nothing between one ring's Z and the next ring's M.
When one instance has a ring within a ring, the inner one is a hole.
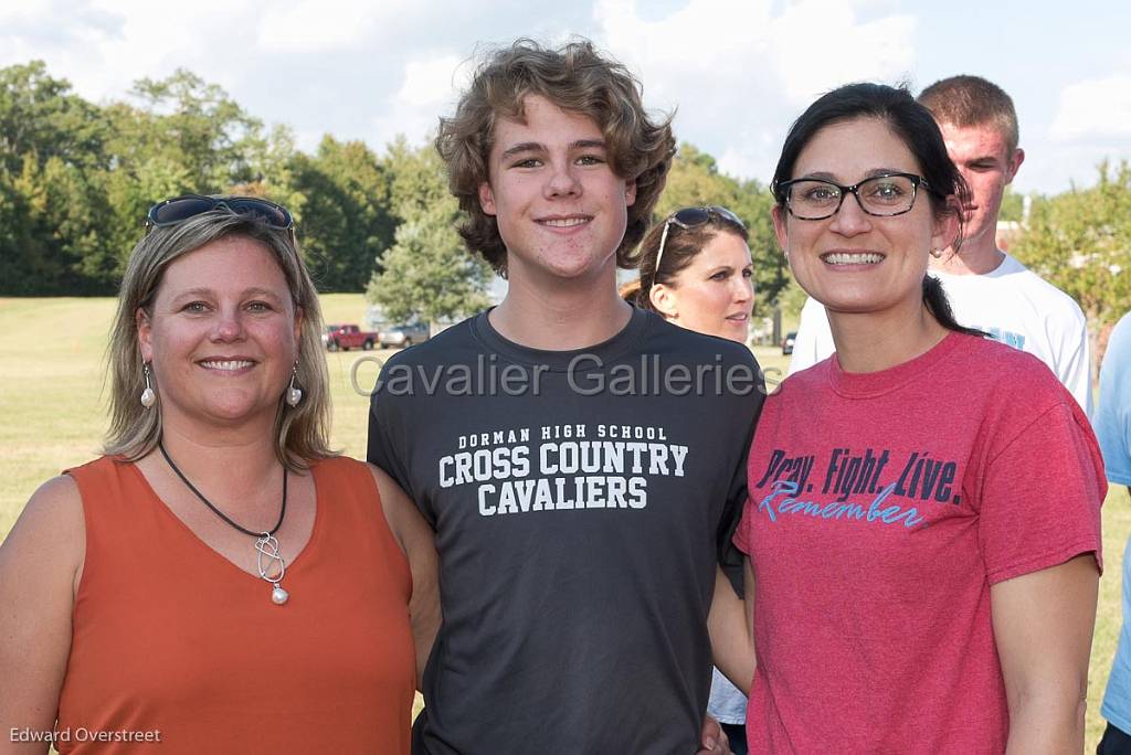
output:
M684 207L640 242L640 277L621 288L629 302L671 322L740 344L754 297L746 226L724 207ZM746 753L746 695L714 670L707 712L735 755Z

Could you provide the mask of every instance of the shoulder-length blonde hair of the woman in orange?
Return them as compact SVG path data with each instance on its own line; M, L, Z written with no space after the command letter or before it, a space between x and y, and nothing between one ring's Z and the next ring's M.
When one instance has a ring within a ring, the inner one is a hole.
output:
M153 314L153 302L165 268L178 258L225 236L260 242L274 257L287 281L295 310L302 311L299 332L297 385L303 398L290 407L279 396L275 415L275 454L288 469L300 470L309 461L335 455L329 448L329 374L322 357L322 313L318 292L291 231L236 215L225 208L204 212L173 226L154 228L130 252L118 296L118 311L110 335L106 361L110 368L110 429L104 452L131 461L146 455L161 440L161 402L141 406L145 389L137 312ZM150 376L150 380L153 378ZM159 393L161 387L154 385Z

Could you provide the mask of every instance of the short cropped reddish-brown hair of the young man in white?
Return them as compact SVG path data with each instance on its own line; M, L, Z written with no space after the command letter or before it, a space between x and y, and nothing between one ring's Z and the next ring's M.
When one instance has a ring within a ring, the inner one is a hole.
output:
M1017 149L1020 133L1013 101L1004 89L981 76L951 76L935 81L920 93L918 102L939 123L960 129L990 123L1005 138L1009 155Z

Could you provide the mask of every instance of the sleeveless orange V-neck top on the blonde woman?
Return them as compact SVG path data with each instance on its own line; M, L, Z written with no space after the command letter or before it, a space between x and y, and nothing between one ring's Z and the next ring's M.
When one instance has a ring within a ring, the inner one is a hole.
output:
M276 606L269 584L205 545L132 463L69 470L86 562L61 754L408 753L407 562L363 463L329 459L312 472L313 531Z

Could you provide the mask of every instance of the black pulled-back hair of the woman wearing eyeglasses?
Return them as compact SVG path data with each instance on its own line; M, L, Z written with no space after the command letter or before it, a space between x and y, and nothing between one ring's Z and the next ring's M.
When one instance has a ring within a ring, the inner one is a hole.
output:
M892 133L899 137L915 156L920 172L926 180L925 194L935 216L939 218L957 216L961 228L962 217L958 207L968 203L969 189L947 154L947 144L942 139L939 124L935 123L931 112L915 102L905 87L890 87L883 84L849 84L834 89L810 105L793 122L782 147L777 168L774 171L774 181L770 183L779 211L785 210L787 198L787 192L779 186L793 177L793 167L805 146L824 127L857 118L874 118L887 123ZM957 202L950 198L957 198ZM958 238L959 241L953 244L955 249L961 243L961 233ZM944 328L984 336L981 330L958 324L942 284L932 276L923 278L923 303Z

